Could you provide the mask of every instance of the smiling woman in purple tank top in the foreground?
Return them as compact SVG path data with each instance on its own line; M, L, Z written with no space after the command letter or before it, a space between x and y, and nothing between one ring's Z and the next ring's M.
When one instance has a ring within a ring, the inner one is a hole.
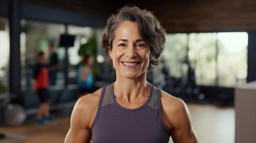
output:
M101 48L117 80L77 101L66 143L197 143L186 104L146 81L164 43L146 10L126 6L108 18Z

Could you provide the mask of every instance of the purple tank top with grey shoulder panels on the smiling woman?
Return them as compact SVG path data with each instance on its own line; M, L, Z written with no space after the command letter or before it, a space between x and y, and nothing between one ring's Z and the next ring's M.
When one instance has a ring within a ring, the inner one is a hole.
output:
M162 120L158 88L150 84L146 103L135 109L117 103L113 83L102 89L92 127L92 143L168 143L169 138Z

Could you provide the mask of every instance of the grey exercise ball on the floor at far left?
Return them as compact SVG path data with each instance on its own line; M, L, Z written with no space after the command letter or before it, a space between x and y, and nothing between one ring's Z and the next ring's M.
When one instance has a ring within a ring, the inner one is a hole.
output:
M4 124L5 125L21 125L27 117L25 110L18 104L8 104L4 108Z

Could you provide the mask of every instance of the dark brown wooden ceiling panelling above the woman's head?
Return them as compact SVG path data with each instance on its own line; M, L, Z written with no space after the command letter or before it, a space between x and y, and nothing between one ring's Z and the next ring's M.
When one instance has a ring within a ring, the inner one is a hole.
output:
M167 32L256 31L256 0L24 0L107 17L125 4L153 11Z

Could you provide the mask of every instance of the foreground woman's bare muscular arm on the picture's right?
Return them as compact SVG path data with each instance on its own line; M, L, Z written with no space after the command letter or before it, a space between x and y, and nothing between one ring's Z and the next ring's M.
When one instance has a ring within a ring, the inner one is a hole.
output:
M164 91L161 94L161 101L164 124L171 134L173 143L197 143L189 110L184 101Z

